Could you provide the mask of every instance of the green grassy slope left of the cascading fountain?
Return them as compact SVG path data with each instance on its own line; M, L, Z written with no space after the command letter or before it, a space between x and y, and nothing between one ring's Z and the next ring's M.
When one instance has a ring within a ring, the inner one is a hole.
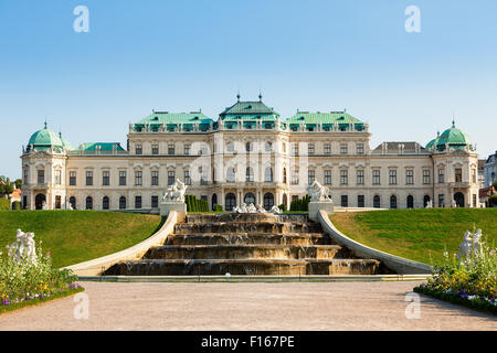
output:
M34 232L36 246L53 265L68 266L128 248L148 238L157 215L96 211L0 211L0 252L15 240L15 229Z

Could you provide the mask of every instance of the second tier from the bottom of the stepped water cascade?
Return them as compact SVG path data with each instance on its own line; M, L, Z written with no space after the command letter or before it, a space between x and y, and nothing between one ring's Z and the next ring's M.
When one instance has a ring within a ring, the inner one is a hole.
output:
M166 245L151 248L144 259L331 259L338 245Z

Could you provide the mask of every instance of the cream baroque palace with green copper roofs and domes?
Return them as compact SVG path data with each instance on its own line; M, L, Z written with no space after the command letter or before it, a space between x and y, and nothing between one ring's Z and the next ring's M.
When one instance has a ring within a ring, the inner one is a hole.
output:
M368 124L346 111L282 119L262 101L237 101L213 120L201 111L152 111L129 126L128 143L74 148L46 127L22 153L28 210L141 210L157 213L177 179L187 193L230 211L285 204L315 180L337 206L477 207L477 153L453 125L425 147L370 149Z

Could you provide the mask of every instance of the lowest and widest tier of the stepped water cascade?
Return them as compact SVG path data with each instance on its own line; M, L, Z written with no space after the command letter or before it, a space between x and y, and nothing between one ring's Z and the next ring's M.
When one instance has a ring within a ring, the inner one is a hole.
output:
M380 263L372 259L142 259L118 263L105 275L373 275Z

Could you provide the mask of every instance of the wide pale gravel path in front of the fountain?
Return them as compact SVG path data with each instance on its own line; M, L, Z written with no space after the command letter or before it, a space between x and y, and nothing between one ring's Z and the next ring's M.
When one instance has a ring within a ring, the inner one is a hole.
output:
M87 320L64 298L0 315L0 330L497 330L494 315L424 296L406 319L416 285L83 282Z

